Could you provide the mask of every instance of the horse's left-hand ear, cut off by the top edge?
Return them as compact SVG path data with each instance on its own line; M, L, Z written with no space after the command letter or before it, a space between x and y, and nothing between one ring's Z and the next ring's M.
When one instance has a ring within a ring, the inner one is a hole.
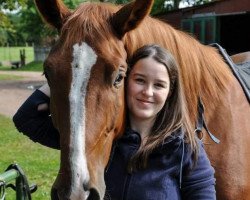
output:
M63 21L71 14L61 0L35 0L35 3L44 20L58 31Z

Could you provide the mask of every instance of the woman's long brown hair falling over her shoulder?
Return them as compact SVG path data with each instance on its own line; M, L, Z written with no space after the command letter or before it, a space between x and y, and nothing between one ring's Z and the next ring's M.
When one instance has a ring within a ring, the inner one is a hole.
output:
M170 78L170 90L162 110L156 116L156 120L150 134L147 136L146 142L141 144L139 150L130 160L128 165L130 172L145 168L149 154L161 145L174 131L180 128L184 130L185 141L190 144L194 155L197 154L194 128L192 128L188 115L187 103L179 75L179 67L174 57L169 51L158 45L145 45L139 48L132 56L129 61L129 70L132 70L133 66L140 59L147 57L153 58L166 67Z

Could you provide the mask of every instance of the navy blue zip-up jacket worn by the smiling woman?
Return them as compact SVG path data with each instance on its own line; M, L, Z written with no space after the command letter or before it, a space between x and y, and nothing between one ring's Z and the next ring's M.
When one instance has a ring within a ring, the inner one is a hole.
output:
M49 98L36 90L13 117L20 132L31 140L59 149L59 134L53 127L49 112L37 111ZM141 138L127 128L112 148L105 170L106 197L111 200L212 200L215 197L214 169L203 144L195 165L189 144L181 130L172 134L149 156L144 170L127 172L127 163L138 150Z

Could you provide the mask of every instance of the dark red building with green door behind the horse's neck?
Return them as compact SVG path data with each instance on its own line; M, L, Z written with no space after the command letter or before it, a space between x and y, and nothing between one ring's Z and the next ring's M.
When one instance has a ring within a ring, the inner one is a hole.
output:
M204 44L219 43L229 54L250 51L250 0L215 0L157 17Z

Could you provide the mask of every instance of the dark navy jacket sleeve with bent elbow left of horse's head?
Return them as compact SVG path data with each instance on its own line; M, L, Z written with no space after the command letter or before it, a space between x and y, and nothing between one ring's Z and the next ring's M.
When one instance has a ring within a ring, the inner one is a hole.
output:
M49 104L50 99L40 90L36 90L18 109L13 122L19 132L28 136L32 141L47 147L60 149L60 136L54 128L50 112L38 111L37 106Z

